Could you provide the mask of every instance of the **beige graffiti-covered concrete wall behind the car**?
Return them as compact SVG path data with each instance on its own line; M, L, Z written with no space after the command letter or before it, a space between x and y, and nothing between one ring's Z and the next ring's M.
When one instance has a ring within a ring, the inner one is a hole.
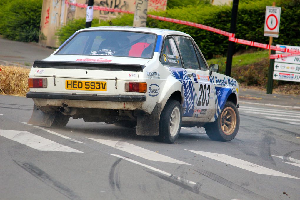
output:
M68 0L72 3L87 4L87 0ZM142 0L140 0L142 1ZM135 10L135 0L94 0L94 5L122 10ZM148 0L148 10L166 10L167 0ZM78 18L85 18L85 8L66 5L64 0L44 0L41 15L41 36L39 43L45 46L58 47L55 32L61 25ZM93 18L110 19L120 13L94 10Z

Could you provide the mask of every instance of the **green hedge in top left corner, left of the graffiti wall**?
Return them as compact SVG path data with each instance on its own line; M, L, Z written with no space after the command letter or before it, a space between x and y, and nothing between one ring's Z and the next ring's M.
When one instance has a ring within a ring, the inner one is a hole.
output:
M43 0L0 0L0 34L10 40L38 42Z

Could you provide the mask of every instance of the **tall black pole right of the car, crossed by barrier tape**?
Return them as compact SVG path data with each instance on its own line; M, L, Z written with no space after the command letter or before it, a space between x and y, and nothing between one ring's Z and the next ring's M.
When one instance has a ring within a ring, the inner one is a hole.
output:
M236 28L236 17L238 15L238 0L233 0L232 3L232 12L231 12L231 22L230 22L230 32L235 33ZM234 42L228 43L228 52L227 52L227 60L226 60L226 69L225 69L225 75L230 76L231 75L231 66L232 66L232 56L233 56L233 50L234 50Z

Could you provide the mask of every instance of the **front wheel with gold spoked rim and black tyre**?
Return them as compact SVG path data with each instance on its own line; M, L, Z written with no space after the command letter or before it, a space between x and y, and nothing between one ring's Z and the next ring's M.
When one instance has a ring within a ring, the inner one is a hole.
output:
M240 126L238 109L227 101L217 120L204 125L206 134L212 140L228 142L235 138Z

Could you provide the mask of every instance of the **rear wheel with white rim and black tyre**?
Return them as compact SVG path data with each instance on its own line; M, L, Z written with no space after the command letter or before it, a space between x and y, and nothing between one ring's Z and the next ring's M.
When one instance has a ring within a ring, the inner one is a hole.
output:
M180 133L182 123L181 105L176 100L168 100L159 120L159 135L154 140L174 143Z

